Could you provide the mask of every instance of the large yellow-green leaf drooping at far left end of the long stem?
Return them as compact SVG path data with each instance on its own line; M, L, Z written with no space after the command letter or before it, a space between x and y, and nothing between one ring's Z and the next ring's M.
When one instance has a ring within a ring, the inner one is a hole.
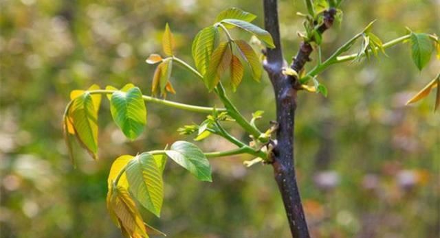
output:
M100 99L99 99L100 102ZM93 158L98 158L98 108L90 93L85 92L74 99L69 109L75 134Z

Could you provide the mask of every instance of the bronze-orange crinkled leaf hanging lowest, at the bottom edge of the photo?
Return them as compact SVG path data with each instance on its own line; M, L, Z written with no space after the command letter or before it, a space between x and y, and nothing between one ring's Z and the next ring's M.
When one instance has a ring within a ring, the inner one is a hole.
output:
M110 198L110 213L118 219L122 233L130 237L147 237L142 217L135 202L124 187L113 187Z

